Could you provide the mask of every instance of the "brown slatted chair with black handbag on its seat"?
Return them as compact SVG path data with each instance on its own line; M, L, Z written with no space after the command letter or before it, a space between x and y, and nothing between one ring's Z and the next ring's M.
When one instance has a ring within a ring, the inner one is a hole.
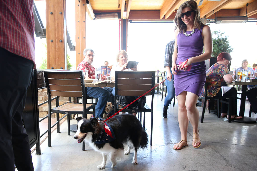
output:
M148 90L154 87L155 71L115 71L115 95L114 95L114 112L116 113L120 108L117 108L116 99L118 96L141 96ZM143 127L145 127L145 112L151 112L151 135L150 145L152 146L153 139L153 96L154 89L146 95L151 96L151 106L145 104L142 109L123 109L122 112L140 112L144 113Z

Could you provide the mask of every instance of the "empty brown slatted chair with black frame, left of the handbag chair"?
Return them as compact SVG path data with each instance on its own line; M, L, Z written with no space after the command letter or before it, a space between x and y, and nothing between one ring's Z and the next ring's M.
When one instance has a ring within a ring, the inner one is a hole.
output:
M86 103L86 98L82 98L83 103L67 102L59 105L59 97L86 97L85 83L82 71L44 71L45 85L47 87L49 115L48 115L48 146L51 147L51 128L57 125L57 133L60 133L59 114L67 115L68 135L70 135L69 115L82 114L87 118L86 112L93 109L95 117L95 104ZM57 96L56 107L52 109L51 96ZM51 124L51 115L56 113L56 123ZM85 143L83 142L83 150Z

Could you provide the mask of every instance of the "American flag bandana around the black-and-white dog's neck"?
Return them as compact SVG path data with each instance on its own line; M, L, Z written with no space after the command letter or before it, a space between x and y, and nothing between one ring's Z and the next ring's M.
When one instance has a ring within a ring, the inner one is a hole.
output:
M104 144L109 143L115 139L115 135L110 125L104 123L101 133L98 135L95 143Z

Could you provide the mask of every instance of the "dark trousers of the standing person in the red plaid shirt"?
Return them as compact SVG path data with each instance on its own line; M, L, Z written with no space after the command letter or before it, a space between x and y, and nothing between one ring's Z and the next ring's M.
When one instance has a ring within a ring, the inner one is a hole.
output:
M22 113L33 62L0 47L0 170L34 170Z

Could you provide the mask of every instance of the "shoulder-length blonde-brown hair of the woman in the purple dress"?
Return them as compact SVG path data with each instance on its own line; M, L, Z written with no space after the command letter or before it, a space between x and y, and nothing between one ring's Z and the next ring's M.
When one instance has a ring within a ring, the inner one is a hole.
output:
M191 8L191 10L194 11L194 13L195 13L194 26L195 26L195 28L198 28L200 30L201 27L205 24L201 21L200 10L197 6L197 3L195 1L186 1L179 6L176 16L173 20L174 23L176 23L179 32L183 33L184 31L186 31L186 28L187 28L186 24L182 21L182 19L180 17L182 14L182 9L185 7Z

